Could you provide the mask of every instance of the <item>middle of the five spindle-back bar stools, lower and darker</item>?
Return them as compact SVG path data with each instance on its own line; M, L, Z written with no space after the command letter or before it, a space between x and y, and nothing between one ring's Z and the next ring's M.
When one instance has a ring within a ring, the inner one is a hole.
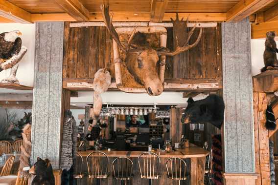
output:
M114 178L121 180L121 184L126 185L126 180L131 180L133 162L127 157L117 157L112 162Z

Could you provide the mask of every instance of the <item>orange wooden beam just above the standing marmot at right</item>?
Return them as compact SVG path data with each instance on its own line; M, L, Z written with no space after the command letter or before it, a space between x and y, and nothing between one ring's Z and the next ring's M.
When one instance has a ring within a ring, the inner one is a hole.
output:
M278 33L278 21L263 22L260 24L251 24L251 38L263 39L268 31Z

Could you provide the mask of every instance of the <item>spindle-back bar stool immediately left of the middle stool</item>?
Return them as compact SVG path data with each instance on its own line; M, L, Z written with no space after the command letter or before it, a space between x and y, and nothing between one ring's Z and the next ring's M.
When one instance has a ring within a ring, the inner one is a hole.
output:
M87 156L86 162L89 179L97 179L99 184L100 179L108 177L109 159L105 153L93 151Z

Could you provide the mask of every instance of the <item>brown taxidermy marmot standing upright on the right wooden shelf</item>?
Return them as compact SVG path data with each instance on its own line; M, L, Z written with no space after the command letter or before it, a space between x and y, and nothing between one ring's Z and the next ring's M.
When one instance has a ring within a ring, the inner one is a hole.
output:
M278 69L278 60L276 55L278 49L274 38L274 31L266 33L265 50L263 53L263 60L265 66L261 69L261 72L264 72L268 69Z

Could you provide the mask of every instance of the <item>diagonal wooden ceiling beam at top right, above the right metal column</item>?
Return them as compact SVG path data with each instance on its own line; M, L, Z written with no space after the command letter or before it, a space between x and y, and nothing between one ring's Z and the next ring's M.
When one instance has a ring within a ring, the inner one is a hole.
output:
M247 18L274 0L240 0L227 12L227 22L237 22Z

